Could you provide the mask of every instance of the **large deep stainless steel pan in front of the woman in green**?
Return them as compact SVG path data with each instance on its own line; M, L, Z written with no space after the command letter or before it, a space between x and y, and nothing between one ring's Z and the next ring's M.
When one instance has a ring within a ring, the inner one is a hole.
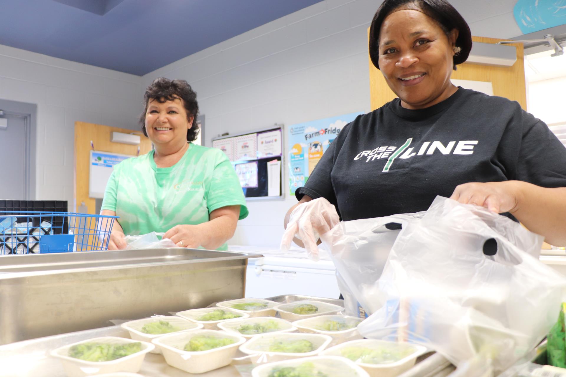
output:
M247 259L258 257L186 248L0 257L0 344L241 298Z

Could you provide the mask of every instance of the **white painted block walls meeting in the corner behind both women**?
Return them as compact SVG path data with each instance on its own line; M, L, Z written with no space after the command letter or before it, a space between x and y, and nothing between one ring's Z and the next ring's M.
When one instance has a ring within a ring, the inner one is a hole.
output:
M474 35L501 38L520 34L514 3L452 1ZM194 85L208 146L222 132L368 111L366 33L379 5L325 0L143 77L0 45L0 98L38 106L37 198L72 205L74 122L137 129L143 88L158 76ZM277 246L293 203L249 202L231 244Z

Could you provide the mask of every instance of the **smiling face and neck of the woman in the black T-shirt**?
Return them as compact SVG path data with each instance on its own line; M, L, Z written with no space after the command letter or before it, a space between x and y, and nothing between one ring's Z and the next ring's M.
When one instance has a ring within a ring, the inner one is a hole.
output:
M417 8L401 8L385 18L379 33L379 68L407 109L424 109L450 97L453 46L432 18Z

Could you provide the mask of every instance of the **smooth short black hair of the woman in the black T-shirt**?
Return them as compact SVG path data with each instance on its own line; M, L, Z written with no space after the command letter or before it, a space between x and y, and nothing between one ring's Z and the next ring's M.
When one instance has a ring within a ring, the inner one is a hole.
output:
M471 50L471 32L468 23L446 0L385 0L381 3L370 26L370 58L374 66L379 70L379 32L381 24L388 15L405 4L414 3L424 14L434 19L440 25L444 33L449 36L453 29L458 31L456 47L458 51L454 54L454 70L456 64L461 64L468 59Z

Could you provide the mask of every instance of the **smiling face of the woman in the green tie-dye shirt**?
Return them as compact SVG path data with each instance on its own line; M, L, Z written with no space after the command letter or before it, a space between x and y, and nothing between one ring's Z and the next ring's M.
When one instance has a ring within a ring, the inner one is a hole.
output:
M180 98L160 103L148 101L145 112L145 131L149 140L157 145L179 145L187 142L187 130L192 127L192 117Z

